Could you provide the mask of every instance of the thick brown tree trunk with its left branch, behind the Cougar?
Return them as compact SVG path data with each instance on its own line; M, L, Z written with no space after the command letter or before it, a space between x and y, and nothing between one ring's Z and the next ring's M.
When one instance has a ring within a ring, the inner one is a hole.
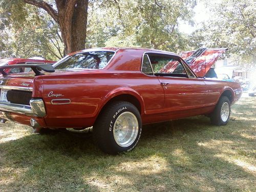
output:
M65 55L84 49L87 32L89 0L55 0L57 10L43 0L24 0L46 10L59 24Z

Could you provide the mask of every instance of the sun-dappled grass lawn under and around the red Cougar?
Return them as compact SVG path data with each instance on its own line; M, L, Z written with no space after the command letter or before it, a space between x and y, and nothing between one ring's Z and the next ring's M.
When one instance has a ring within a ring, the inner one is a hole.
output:
M0 191L256 191L256 97L231 111L226 126L204 116L146 125L118 156L91 133L0 124Z

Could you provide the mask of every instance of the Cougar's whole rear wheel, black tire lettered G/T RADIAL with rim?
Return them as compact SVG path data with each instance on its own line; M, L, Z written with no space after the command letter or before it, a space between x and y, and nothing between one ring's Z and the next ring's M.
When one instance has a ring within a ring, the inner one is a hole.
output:
M126 123L126 127L133 125L132 132L127 132L122 126L123 123ZM126 133L124 133L125 131ZM113 155L133 150L140 139L141 131L140 113L136 106L126 101L116 101L107 105L93 126L93 136L96 144L103 152ZM121 141L125 140L127 136L127 144L118 142L117 137L119 137L118 133L120 132L125 135L125 138Z

